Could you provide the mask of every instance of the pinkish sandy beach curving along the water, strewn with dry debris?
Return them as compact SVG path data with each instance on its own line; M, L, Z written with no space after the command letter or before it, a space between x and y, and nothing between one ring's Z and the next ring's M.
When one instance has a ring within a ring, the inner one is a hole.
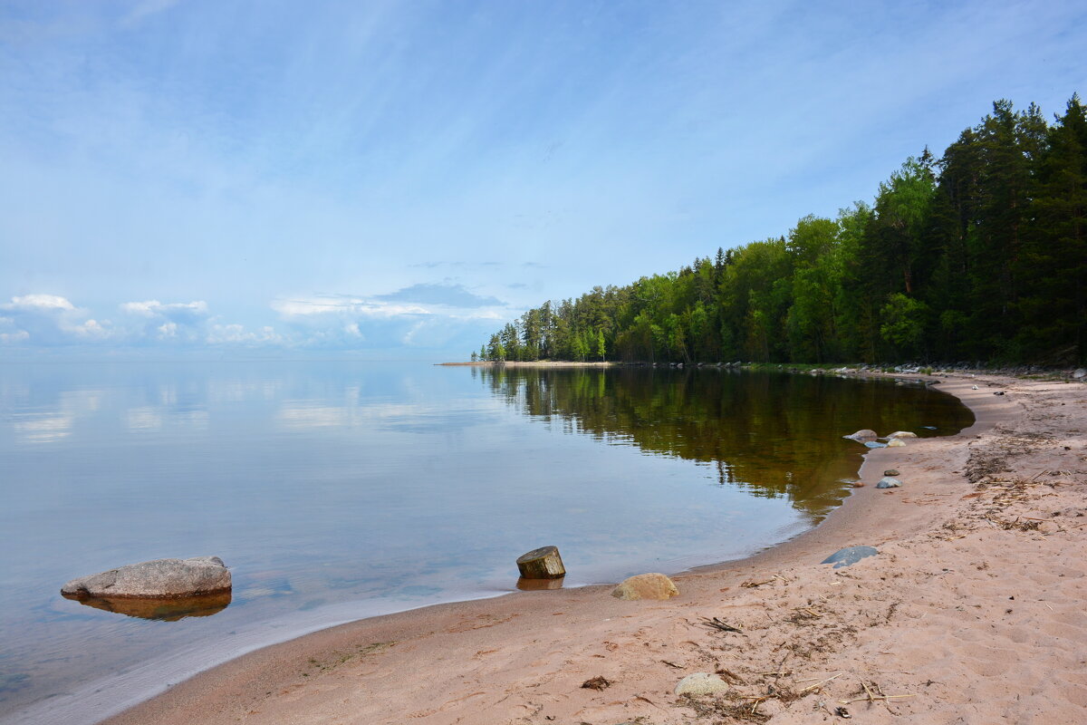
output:
M941 383L975 411L973 427L873 451L866 486L821 526L675 576L674 599L588 587L357 622L107 722L785 725L838 721L838 708L863 723L1085 722L1087 387ZM903 487L877 490L889 467ZM853 545L879 553L820 564ZM697 672L727 691L675 696ZM582 686L597 677L609 684Z

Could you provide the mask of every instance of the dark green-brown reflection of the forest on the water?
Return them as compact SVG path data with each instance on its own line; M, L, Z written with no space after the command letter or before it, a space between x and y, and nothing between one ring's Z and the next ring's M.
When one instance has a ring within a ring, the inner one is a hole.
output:
M525 415L611 445L712 467L721 486L788 498L820 517L842 497L841 436L859 427L935 435L973 423L950 396L887 380L645 367L480 367ZM855 470L855 464L852 464Z

